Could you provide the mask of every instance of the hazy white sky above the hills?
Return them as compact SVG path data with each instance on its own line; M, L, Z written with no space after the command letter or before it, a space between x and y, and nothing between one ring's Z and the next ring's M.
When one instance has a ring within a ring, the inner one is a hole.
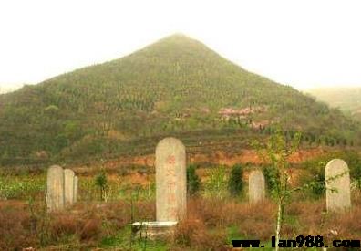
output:
M0 90L181 32L298 89L361 87L361 1L1 0Z

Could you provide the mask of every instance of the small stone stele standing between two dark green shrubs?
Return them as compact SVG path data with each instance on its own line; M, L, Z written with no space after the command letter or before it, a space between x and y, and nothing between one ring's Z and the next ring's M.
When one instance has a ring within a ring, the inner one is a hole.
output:
M248 196L251 204L262 202L265 198L264 176L261 170L254 170L248 178Z

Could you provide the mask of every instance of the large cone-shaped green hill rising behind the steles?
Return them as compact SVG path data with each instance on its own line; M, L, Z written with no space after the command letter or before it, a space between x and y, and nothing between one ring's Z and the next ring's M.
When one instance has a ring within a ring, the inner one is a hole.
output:
M125 58L0 95L0 160L145 154L167 135L194 151L234 150L278 125L289 137L304 131L309 144L358 143L359 125L339 110L174 35Z

